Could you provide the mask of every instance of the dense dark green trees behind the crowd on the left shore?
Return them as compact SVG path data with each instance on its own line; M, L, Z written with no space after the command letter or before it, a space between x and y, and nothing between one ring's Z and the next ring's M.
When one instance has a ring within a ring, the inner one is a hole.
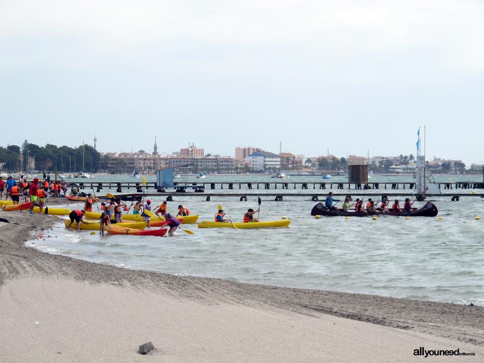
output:
M99 152L88 144L75 148L52 144L38 146L25 140L20 146L0 146L0 169L10 173L34 170L96 172L100 157Z

